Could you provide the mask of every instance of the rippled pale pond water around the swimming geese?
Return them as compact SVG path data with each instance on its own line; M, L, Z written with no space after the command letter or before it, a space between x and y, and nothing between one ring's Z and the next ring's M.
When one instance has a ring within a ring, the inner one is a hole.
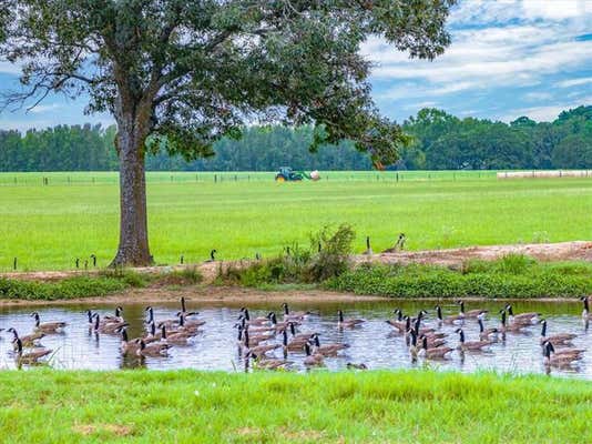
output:
M467 310L488 310L486 327L499 326L499 310L506 302L467 302ZM525 334L508 333L504 341L493 343L488 352L465 353L452 352L446 361L429 361L419 359L414 362L404 335L395 334L394 329L385 320L392 319L392 311L399 307L406 314L417 315L421 309L428 311L422 326L436 325L435 302L386 301L356 303L293 303L290 309L312 311L300 326L299 332L317 332L321 343L346 343L349 345L337 357L325 359L327 369L337 371L346 367L348 362L365 363L369 369L422 367L456 370L473 372L477 370L494 370L509 372L543 373L542 349L540 346L540 325L528 329ZM458 314L458 305L452 301L441 303L443 315ZM562 303L512 303L514 313L540 312L548 320L548 334L576 333L573 346L588 349L592 333L588 331L581 319L582 306L578 302ZM130 324L130 337L144 334L145 305L123 305L123 316ZM35 306L41 322L65 321L68 326L62 334L48 335L41 343L53 351L49 364L55 369L90 369L114 370L144 366L155 370L197 369L218 371L243 371L245 369L244 353L237 345L237 329L234 325L239 315L241 305L198 304L187 300L187 310L200 312L198 319L206 321L202 331L186 346L173 346L166 357L137 359L134 355L122 356L120 351L121 336L113 334L95 334L89 330L85 311L112 314L113 306L63 305ZM269 311L278 313L282 321L282 307L278 304L251 304L251 316L262 316ZM155 319L174 317L178 304L155 304ZM337 326L337 310L341 309L346 317L363 317L366 322L356 329L339 329ZM29 334L33 330L34 320L30 316L31 307L0 309L0 329L14 327L20 335ZM443 324L439 330L448 334L447 345L458 345L458 326ZM478 340L479 326L476 320L467 320L462 325L467 341ZM12 353L11 334L0 332L0 369L16 366ZM282 335L277 335L271 343L280 343ZM282 350L276 351L276 357L283 357ZM273 355L273 354L272 354ZM304 352L288 354L290 369L304 371ZM551 373L560 375L575 375L592 379L592 352L572 369L552 369Z

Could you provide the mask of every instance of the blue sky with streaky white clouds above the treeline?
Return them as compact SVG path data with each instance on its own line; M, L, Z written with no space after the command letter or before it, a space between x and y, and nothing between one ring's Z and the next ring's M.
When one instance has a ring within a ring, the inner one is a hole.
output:
M372 97L402 122L421 108L510 122L551 121L592 104L592 0L460 0L448 29L452 43L435 61L409 59L370 39ZM0 92L18 88L19 69L0 62ZM0 129L113 122L84 115L85 99L50 97L32 111L0 113Z

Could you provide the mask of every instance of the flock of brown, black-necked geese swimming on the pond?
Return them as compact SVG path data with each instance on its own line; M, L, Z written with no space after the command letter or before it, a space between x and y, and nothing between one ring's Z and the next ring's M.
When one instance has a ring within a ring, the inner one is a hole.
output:
M581 302L582 321L588 326L588 322L592 320L589 299L581 297ZM455 354L461 357L465 354L494 354L497 344L506 344L520 335L534 336L532 347L540 349L545 367L574 369L584 357L585 349L573 346L579 333L553 331L553 325L549 320L542 319L540 313L514 313L511 304L504 304L499 311L491 313L480 309L466 310L465 302L460 300L456 304L458 313L449 316L442 315L440 305L429 312L420 310L415 315L396 309L394 317L385 320L388 325L385 326L385 332L394 341L400 337L410 362L447 361ZM194 345L195 337L207 329L206 321L200 319L198 312L186 310L184 297L181 299L181 310L171 319L157 319L152 306L145 307L144 313L144 333L137 337L129 336L130 324L124 319L121 306L115 307L110 315L101 316L90 310L85 315L90 333L118 337L120 353L137 360L164 357L173 347ZM287 303L282 305L279 314L269 311L264 316L256 317L247 307L242 307L237 311L232 327L235 329L233 335L245 369L292 369L295 361L307 369L321 367L328 360L347 357L349 344L345 340L325 342L324 333L315 331L314 323L309 322L316 316L317 313L309 311L292 311ZM51 361L53 351L42 345L43 339L61 334L68 329L65 322L47 322L38 312L31 313L31 332L27 334L20 335L13 326L4 331L11 335L10 353L19 366ZM365 329L365 324L366 320L346 317L338 310L334 329L356 332ZM539 329L537 337L533 332ZM346 367L366 370L369 365L364 362L347 362Z

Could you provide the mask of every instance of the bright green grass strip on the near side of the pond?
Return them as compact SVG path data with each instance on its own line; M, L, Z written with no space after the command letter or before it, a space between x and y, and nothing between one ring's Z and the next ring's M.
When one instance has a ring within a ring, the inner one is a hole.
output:
M22 442L592 441L592 385L368 372L0 372L0 436Z

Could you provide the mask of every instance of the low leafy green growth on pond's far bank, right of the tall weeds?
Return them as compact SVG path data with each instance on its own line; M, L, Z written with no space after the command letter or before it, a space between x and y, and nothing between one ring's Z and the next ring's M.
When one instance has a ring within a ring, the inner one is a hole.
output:
M436 265L365 265L325 283L330 290L394 297L575 297L592 293L592 265L511 256Z

